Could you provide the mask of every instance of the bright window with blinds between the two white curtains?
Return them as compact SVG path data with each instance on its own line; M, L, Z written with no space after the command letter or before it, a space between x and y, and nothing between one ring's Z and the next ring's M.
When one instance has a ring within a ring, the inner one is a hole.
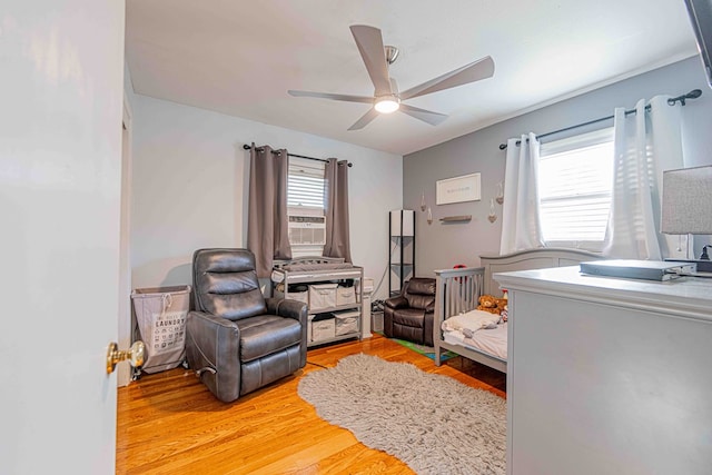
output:
M613 164L613 128L542 144L540 219L547 246L602 250Z

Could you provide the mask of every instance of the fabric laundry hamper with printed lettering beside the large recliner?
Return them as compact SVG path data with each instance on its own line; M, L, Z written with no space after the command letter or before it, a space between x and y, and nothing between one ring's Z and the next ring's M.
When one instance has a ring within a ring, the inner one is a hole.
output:
M138 337L146 345L141 370L178 367L186 357L186 317L190 286L139 288L131 293Z

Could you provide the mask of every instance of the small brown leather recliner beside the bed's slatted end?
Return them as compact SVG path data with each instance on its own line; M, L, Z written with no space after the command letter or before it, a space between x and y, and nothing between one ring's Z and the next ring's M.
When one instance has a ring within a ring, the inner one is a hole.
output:
M435 279L414 277L400 295L388 298L383 310L383 330L388 338L400 338L433 346Z

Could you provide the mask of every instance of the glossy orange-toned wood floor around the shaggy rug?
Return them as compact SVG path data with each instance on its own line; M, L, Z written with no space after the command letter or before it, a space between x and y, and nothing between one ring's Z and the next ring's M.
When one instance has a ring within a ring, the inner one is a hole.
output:
M239 398L215 399L190 370L145 375L118 392L117 474L408 474L398 459L317 417L297 395L317 365L365 353L408 362L505 397L505 375L456 357L441 367L382 336L310 349L291 377Z

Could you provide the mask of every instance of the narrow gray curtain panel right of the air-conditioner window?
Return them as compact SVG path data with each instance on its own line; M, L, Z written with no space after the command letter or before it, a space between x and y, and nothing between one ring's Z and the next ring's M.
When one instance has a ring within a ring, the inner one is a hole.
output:
M352 261L348 231L348 162L329 158L325 169L326 244L324 256Z

